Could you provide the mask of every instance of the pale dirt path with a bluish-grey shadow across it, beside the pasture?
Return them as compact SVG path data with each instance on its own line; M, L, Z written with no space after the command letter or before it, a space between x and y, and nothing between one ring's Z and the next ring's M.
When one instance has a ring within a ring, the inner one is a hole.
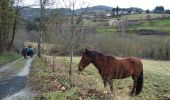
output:
M29 100L26 81L33 58L18 59L0 69L0 99Z

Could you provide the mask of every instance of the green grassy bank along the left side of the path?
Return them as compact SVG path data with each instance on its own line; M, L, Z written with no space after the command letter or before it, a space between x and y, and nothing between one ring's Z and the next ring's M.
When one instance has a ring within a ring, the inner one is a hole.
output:
M15 61L19 58L21 58L22 56L16 53L5 53L3 55L0 56L0 66L7 64L9 62Z

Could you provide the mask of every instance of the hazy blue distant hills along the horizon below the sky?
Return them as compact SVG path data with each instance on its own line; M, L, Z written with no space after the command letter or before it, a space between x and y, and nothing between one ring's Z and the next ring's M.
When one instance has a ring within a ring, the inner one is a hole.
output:
M86 13L95 13L95 12L100 12L100 11L112 11L112 9L113 9L113 7L99 5L99 6L88 7L86 9ZM76 13L76 15L79 15L84 10L85 10L85 8L76 9L75 13ZM136 8L136 7L120 8L120 11L129 11L129 10L140 11L140 12L143 11L141 8ZM69 9L66 9L66 8L46 9L46 12L47 12L47 14L61 13L61 14L64 14L64 15L68 15ZM39 8L25 8L21 11L21 15L26 20L34 20L35 18L40 17L40 9Z

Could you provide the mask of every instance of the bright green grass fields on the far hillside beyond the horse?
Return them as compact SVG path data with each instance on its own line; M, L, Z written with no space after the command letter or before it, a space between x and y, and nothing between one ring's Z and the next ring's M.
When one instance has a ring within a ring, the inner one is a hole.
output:
M135 17L137 15L129 15L129 16ZM93 22L91 22L91 23L93 23ZM97 23L97 22L95 22L95 23ZM98 23L100 23L100 22L98 22ZM154 30L154 31L159 31L159 32L167 32L168 34L170 34L169 27L170 27L170 19L164 18L164 19L156 19L156 20L145 20L145 21L139 22L139 24L129 25L129 26L127 26L126 29L127 29L127 32L130 34L136 32L138 30ZM124 30L126 30L126 29L124 29ZM115 26L104 26L104 25L102 26L101 23L100 23L100 25L96 25L96 28L95 28L96 33L120 33L121 30L122 30L121 28L119 29L118 27L115 27Z

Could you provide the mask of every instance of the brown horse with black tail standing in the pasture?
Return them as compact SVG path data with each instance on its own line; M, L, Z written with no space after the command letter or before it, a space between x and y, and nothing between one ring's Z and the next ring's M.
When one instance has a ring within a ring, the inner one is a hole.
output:
M132 76L134 80L131 96L138 95L143 87L143 65L140 59L128 57L116 59L106 56L96 51L85 50L78 65L79 71L92 63L99 71L104 83L104 87L109 83L110 90L113 92L112 79L123 79Z

